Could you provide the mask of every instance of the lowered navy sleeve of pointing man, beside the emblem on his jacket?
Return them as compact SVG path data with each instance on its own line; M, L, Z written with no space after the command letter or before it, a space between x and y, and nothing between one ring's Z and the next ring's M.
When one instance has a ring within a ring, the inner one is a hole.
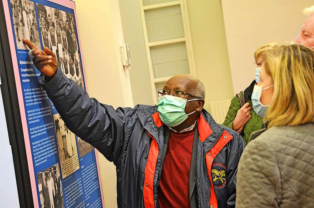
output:
M228 144L230 149L229 161L227 164L228 200L227 207L234 208L236 204L236 183L238 163L245 147L244 140L237 132L233 133L233 142ZM232 140L231 140L232 141Z

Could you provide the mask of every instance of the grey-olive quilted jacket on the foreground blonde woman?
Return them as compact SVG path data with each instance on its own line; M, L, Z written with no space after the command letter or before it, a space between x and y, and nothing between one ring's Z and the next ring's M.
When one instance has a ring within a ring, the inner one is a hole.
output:
M251 140L239 162L236 207L313 208L314 123L260 130Z

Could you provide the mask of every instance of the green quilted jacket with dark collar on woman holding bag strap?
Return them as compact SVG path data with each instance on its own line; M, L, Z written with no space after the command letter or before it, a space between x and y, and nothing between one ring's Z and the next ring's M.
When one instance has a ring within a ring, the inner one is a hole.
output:
M262 126L263 126L262 118L259 115L257 115L256 112L253 110L253 105L252 105L252 101L251 101L251 95L252 95L255 83L256 82L254 80L251 83L251 85L244 90L245 102L250 103L250 107L252 108L252 111L251 111L252 112L251 113L252 117L245 124L242 132L240 133L241 136L243 137L243 140L244 140L245 144L248 143L248 141L250 139L250 136L251 136L251 133L253 131L257 131L257 130L262 129ZM237 114L238 110L240 110L240 108L241 108L240 101L237 98L237 96L234 96L231 99L231 104L230 104L229 110L227 112L225 121L222 123L222 125L232 129L233 121L235 120L236 114Z

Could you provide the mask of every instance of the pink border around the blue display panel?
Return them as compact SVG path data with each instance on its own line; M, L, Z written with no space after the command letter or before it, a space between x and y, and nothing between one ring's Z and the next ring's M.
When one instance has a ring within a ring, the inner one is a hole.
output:
M49 0L49 1L51 1L53 3L60 4L62 6L65 6L65 7L68 7L68 8L71 8L74 10L75 23L76 23L76 27L77 27L77 33L78 33L78 43L79 43L79 48L80 48L80 52L81 52L80 55L81 55L81 61L82 61L82 66L83 66L83 73L84 73L85 88L86 88L86 91L88 92L86 73L85 73L85 67L84 67L84 58L83 58L83 52L82 52L82 44L81 44L81 38L79 35L78 19L77 19L77 13L76 13L76 9L75 9L75 3L71 0ZM23 101L23 92L22 92L22 86L21 86L21 81L20 81L20 77L19 77L19 66L18 66L18 60L17 60L17 56L16 56L16 51L15 51L15 44L14 44L14 36L13 36L13 32L12 32L13 29L12 29L12 25L11 25L10 11L9 11L9 6L8 6L8 1L2 0L2 2L3 2L6 25L8 28L8 39L9 39L12 64L13 64L13 70L14 70L14 78L15 78L15 84L16 84L16 88L17 88L17 95L18 95L19 108L20 108L20 114L21 114L21 122L22 122L23 134L24 134L27 163L31 164L31 165L28 165L28 168L29 168L29 172L30 172L30 184L31 184L31 190L32 190L32 195L33 195L34 208L39 208L39 202L38 202L38 197L37 197L37 187L36 187L36 181L35 181L35 172L34 172L32 154L31 154L31 149L30 149L30 138L28 135L28 127L27 127L25 107L24 107L24 101ZM11 29L11 30L9 30L9 29ZM101 200L102 200L103 207L105 208L104 194L102 191L102 183L101 183L101 178L100 178L100 168L99 168L98 155L97 155L96 149L95 149L95 157L96 157L96 164L97 164L97 170L98 170Z

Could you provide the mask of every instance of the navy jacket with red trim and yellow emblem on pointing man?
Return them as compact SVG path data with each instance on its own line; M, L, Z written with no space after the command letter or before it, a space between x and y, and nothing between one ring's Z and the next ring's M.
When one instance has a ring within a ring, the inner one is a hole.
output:
M115 164L118 207L158 207L157 188L169 129L157 106L115 110L89 98L60 69L50 82L45 83L42 75L39 82L67 127ZM202 110L195 127L189 175L192 208L235 207L236 172L243 149L240 134L215 123Z

